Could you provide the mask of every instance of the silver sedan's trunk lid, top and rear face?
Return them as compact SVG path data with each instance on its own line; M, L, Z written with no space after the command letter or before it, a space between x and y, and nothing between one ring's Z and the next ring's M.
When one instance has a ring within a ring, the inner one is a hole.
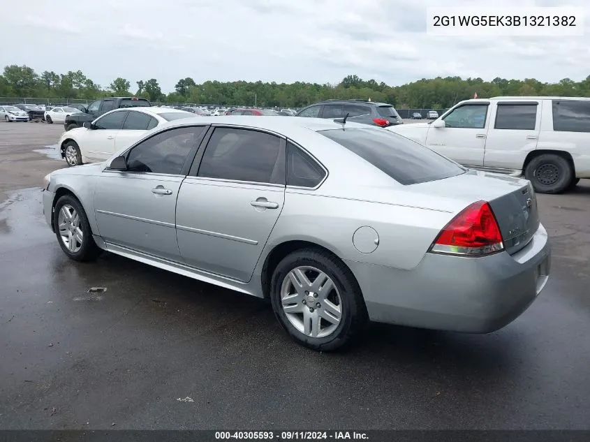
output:
M510 254L529 244L539 228L536 194L526 179L469 170L464 175L408 187L430 196L461 199L464 207L478 200L489 202Z

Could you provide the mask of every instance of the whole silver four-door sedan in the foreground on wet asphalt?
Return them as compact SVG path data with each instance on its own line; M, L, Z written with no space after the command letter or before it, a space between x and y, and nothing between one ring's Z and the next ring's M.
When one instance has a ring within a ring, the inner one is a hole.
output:
M270 298L293 339L322 351L367 318L492 332L550 272L528 181L366 124L179 119L44 189L71 259L105 250Z

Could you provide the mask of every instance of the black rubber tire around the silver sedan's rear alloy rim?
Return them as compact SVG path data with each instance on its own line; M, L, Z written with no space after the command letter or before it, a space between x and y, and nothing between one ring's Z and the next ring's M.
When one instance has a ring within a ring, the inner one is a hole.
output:
M308 266L314 267L330 277L340 295L341 318L336 329L326 337L311 337L297 330L283 311L281 302L283 281L288 278L291 270L296 267ZM274 314L286 332L297 343L316 351L334 351L346 346L360 333L368 320L367 307L352 272L341 260L318 249L294 251L281 260L272 274L270 298Z

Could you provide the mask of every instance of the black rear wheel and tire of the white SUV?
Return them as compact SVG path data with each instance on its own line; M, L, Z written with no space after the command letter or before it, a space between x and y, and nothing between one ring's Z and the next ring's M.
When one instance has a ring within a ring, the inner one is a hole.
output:
M574 178L568 160L556 154L541 154L533 158L524 168L524 177L538 193L562 193Z

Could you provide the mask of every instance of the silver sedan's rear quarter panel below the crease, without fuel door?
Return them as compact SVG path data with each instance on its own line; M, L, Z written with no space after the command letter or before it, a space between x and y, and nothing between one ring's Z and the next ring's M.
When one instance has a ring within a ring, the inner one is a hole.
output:
M452 216L432 209L287 189L267 252L283 242L305 240L324 246L344 260L411 270ZM353 244L355 231L363 226L378 233L378 245L371 253L361 253Z

